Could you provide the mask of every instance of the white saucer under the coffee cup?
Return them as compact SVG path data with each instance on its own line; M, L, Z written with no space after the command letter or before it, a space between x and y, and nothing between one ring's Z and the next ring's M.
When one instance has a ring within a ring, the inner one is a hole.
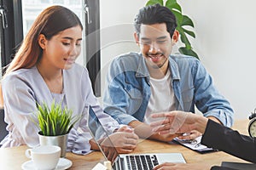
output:
M55 170L64 170L71 166L72 166L72 161L61 157L60 160L58 161L57 167L55 167ZM21 168L24 170L36 170L36 167L34 167L34 163L32 160L24 162Z

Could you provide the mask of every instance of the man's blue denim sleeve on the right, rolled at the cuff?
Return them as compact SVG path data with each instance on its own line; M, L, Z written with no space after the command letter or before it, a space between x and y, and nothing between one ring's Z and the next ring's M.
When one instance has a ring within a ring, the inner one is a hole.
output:
M215 88L212 77L201 62L195 60L193 69L195 75L195 104L204 116L218 118L224 126L231 127L234 122L234 111L230 102Z

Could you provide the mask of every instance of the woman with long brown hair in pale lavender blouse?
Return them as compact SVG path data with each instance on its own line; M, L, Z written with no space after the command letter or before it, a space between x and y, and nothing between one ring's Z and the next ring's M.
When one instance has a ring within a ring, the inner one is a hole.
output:
M78 16L68 8L51 6L38 15L3 77L9 135L3 139L2 147L37 145L38 127L32 115L37 103L51 105L53 100L73 109L73 115L82 115L69 133L67 151L86 154L98 149L85 127L89 105L110 133L119 127L98 105L88 71L75 64L81 51L82 30ZM128 127L121 127L112 135L119 136L114 141L119 144L119 152L129 153L136 147L137 135Z

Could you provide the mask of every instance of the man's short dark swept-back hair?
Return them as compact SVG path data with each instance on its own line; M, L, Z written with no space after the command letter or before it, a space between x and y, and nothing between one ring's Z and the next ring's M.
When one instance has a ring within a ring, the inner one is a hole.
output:
M137 35L141 32L141 25L153 25L166 23L167 31L172 37L173 32L177 27L175 15L169 8L161 6L160 4L149 5L139 10L135 17L134 26Z

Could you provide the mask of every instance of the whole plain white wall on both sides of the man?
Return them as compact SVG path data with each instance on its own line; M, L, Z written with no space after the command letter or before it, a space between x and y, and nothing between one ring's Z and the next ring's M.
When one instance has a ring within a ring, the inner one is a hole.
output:
M256 1L177 0L195 22L195 51L221 94L230 100L235 118L256 108ZM138 51L132 22L147 0L102 0L102 83L114 56ZM102 84L102 90L104 85Z

